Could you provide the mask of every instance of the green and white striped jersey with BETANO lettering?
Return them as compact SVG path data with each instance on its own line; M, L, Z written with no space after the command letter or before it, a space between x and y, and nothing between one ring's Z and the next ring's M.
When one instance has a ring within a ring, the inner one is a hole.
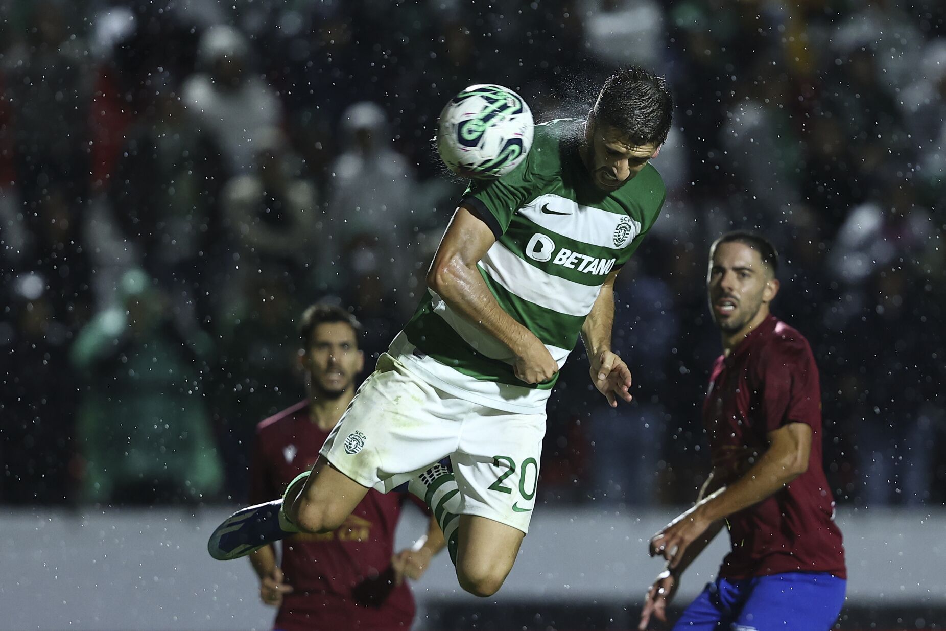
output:
M464 204L497 237L479 264L483 280L559 367L607 274L638 249L666 197L650 165L616 191L596 188L578 154L583 123L566 118L536 125L521 165L499 180L472 182L464 195ZM391 353L431 385L505 412L544 412L557 378L539 384L517 379L509 349L432 290L394 338Z

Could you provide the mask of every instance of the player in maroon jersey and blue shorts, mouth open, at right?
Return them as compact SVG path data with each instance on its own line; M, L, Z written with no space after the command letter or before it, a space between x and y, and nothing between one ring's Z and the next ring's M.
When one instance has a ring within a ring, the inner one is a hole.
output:
M650 541L667 559L648 591L640 629L666 620L680 575L727 526L716 580L677 629L830 629L846 570L834 501L821 464L821 391L805 338L769 313L778 255L752 233L710 250L710 310L723 340L703 425L712 469L696 504Z

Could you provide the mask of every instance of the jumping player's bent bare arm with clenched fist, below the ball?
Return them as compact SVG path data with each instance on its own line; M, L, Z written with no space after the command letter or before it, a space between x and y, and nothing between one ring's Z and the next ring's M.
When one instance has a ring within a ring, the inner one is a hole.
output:
M499 307L477 268L495 242L489 226L461 205L434 254L427 275L429 288L513 352L516 377L526 383L547 381L558 372L558 364L532 331Z

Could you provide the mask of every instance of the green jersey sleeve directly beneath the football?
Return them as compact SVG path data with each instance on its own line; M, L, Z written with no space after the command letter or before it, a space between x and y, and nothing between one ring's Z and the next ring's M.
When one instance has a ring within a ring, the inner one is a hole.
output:
M470 180L466 187L461 203L472 209L497 239L505 234L516 211L534 199L533 153L531 150L518 167L498 180Z

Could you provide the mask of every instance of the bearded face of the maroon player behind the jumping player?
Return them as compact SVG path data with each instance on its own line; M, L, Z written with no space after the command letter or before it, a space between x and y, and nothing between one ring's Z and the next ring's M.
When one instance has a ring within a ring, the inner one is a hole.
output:
M364 367L355 330L343 322L319 324L312 331L303 358L309 384L317 395L341 396Z

